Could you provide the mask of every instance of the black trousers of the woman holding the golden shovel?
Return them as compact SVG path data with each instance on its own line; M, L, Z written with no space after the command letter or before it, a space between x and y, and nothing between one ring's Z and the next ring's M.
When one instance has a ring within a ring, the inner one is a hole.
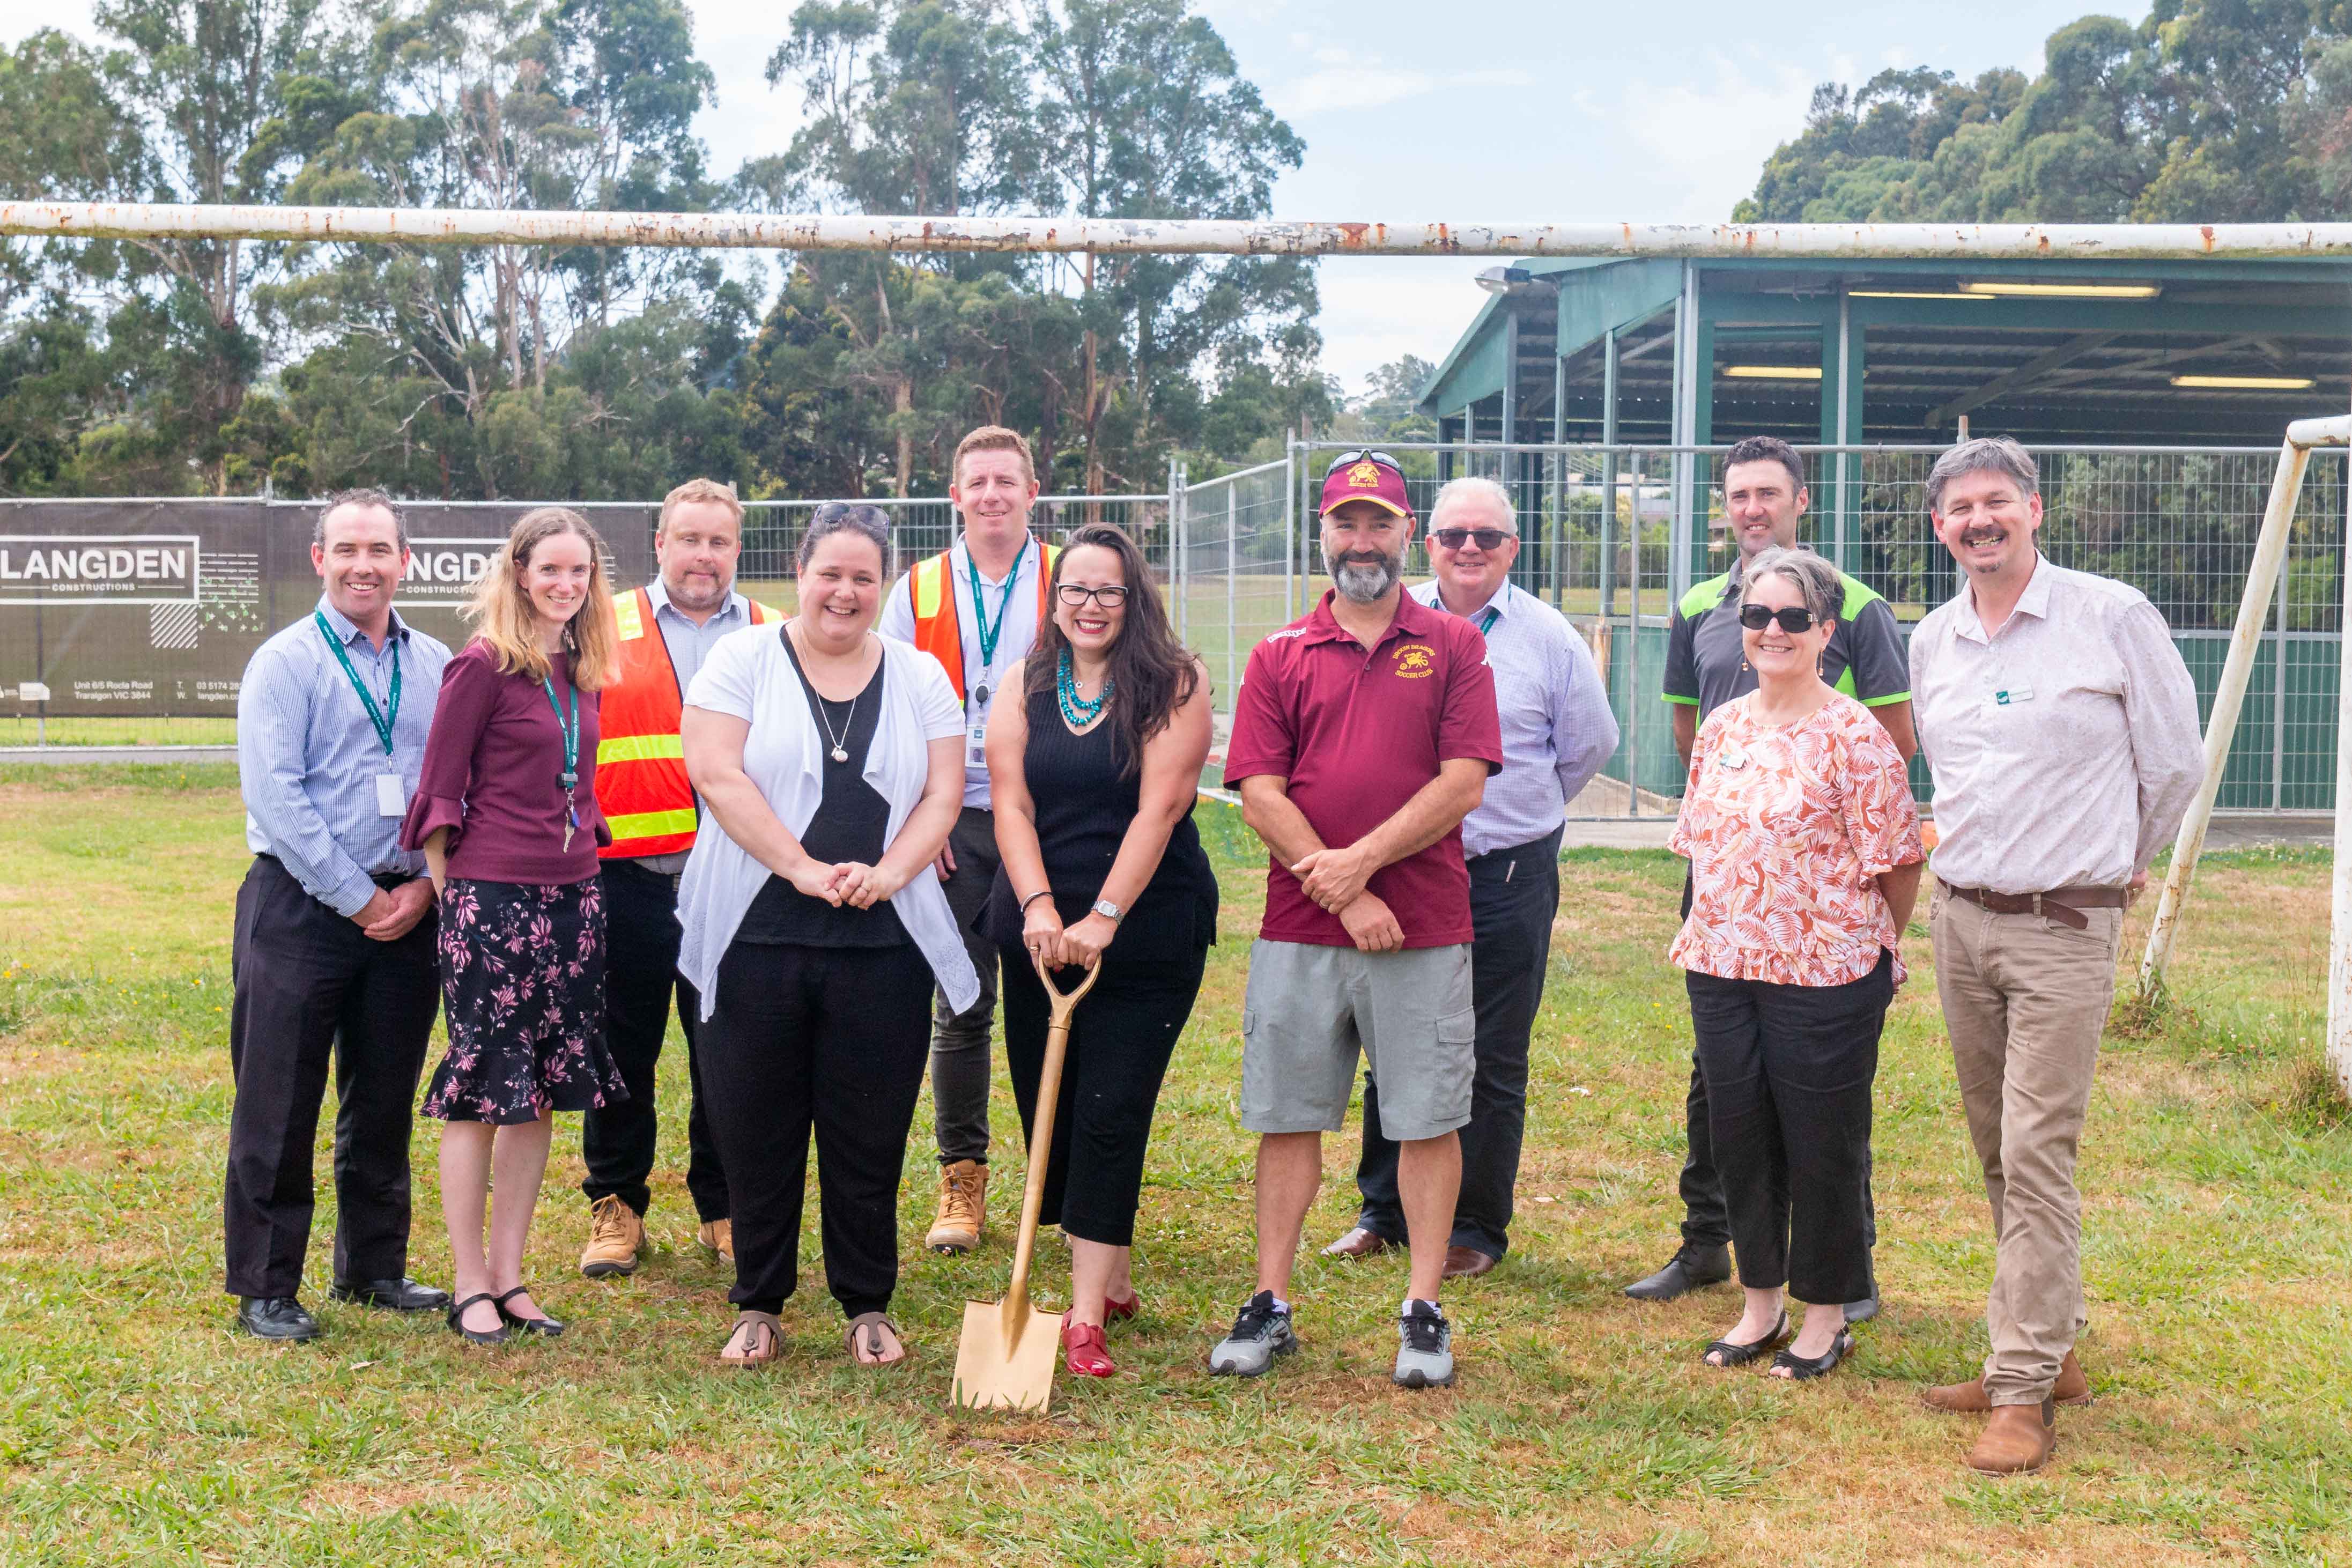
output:
M1070 1016L1070 1048L1061 1063L1054 1105L1054 1150L1044 1168L1040 1225L1103 1246L1134 1246L1136 1201L1143 1192L1143 1152L1176 1037L1183 1034L1209 950L1190 959L1122 961L1120 945L1103 954L1103 978ZM1056 976L1063 987L1084 976ZM1021 1105L1021 1131L1037 1126L1037 1084L1044 1079L1044 1037L1054 1018L1044 983L1018 945L1004 950L1004 1065Z

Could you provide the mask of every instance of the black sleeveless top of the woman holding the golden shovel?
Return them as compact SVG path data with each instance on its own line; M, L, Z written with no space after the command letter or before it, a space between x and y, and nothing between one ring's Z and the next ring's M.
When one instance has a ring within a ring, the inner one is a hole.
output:
M1143 806L1143 771L1120 773L1110 724L1073 736L1061 722L1054 686L1028 698L1028 724L1021 769L1037 813L1037 849L1044 851L1054 907L1065 926L1075 926L1103 896L1103 879L1120 858L1120 842ZM1021 945L1021 907L1002 870L988 891L981 933L1004 947ZM1120 919L1120 933L1105 957L1190 959L1211 943L1216 943L1216 872L1209 870L1200 827L1185 806L1183 820L1169 832L1160 867Z

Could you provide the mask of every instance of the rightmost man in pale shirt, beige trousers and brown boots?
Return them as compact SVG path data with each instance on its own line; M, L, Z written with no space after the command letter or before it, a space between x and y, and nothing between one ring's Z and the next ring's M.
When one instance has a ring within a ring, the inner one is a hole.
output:
M1936 776L1936 994L1997 1239L1980 1378L1926 1392L1987 1413L1969 1467L2039 1469L2056 1408L2091 1403L2074 1152L2114 999L2124 905L2204 780L2197 686L2140 590L2034 548L2042 491L2006 437L1929 473L1962 588L1912 632Z

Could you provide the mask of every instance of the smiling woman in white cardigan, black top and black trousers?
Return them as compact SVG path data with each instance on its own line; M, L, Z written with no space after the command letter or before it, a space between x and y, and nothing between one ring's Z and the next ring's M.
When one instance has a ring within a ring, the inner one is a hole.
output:
M978 976L931 872L964 797L964 712L929 654L873 632L891 574L880 508L826 505L800 614L710 651L680 736L703 799L677 889L677 969L734 1211L724 1366L767 1366L800 1272L809 1133L826 1284L861 1366L906 1356L898 1175L931 1048L931 983Z

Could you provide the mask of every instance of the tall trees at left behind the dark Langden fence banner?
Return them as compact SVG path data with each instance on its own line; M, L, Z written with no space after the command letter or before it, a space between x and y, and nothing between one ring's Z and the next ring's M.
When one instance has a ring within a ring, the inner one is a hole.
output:
M1190 0L804 0L720 174L682 0L101 0L0 54L0 195L1265 216L1303 143ZM960 433L1155 489L1336 411L1312 266L0 242L0 494L936 494ZM1195 461L1195 470L1202 461Z

